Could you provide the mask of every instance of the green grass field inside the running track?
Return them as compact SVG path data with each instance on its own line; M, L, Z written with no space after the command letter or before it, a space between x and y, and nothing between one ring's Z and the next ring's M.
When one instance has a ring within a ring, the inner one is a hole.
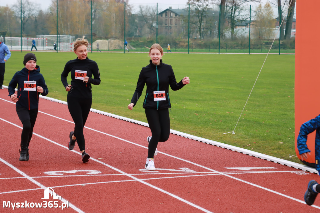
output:
M6 63L4 85L23 68L27 52L12 51ZM49 88L49 97L67 100L60 75L73 52L34 52ZM142 98L130 111L130 103L147 53L89 53L98 63L101 84L92 85L92 108L147 122ZM234 135L232 131L259 74L266 55L164 54L177 81L190 84L170 91L171 129L225 144L299 162L289 158L294 150L294 55L269 55ZM70 78L68 78L70 79ZM70 82L70 80L69 80Z

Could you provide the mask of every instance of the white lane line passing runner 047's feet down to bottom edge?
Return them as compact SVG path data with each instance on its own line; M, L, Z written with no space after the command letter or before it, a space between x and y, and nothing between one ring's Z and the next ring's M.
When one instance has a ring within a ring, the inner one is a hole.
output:
M8 122L8 123L12 124L13 126L16 126L16 127L20 128L20 129L22 129L22 127L14 124L14 123L12 123L12 122L6 121L6 120L4 120L4 119L2 119L2 118L0 118L0 120L2 120L2 121L4 121L4 122ZM52 140L50 140L50 139L48 139L48 138L45 138L45 137L43 137L43 136L41 136L41 135L39 135L39 134L36 134L36 133L33 133L33 134L36 135L36 136L38 136L38 137L40 137L40 138L43 138L43 139L45 139L45 140L47 140L47 141L50 141L50 142L53 143L53 144L56 144L56 145L58 145L58 146L61 146L61 147L65 148L65 149L68 149L68 150L69 150L68 147L62 146L62 145L58 144L58 143L55 142L55 141L52 141ZM70 151L70 150L69 150L69 151ZM81 155L80 152L76 152L75 150L72 150L72 152ZM198 206L198 205L196 205L196 204L194 204L194 203L191 203L191 202L189 202L189 201L187 201L187 200L185 200L185 199L183 199L183 198L180 198L179 196L177 196L177 195L175 195L175 194L172 194L172 193L170 193L170 192L167 192L167 191L165 191L165 190L163 190L163 189L161 189L161 188L159 188L159 187L157 187L157 186L151 185L151 184L149 184L149 183L147 183L147 182L145 182L145 181L143 181L143 180L140 180L140 179L137 178L137 177L134 177L134 176L132 176L132 175L130 175L130 174L127 174L127 173L125 173L125 172L122 171L122 170L119 170L119 169L117 169L117 168L115 168L115 167L113 167L113 166L111 166L111 165L108 165L107 163L101 162L101 161L99 161L99 160L97 160L97 159L94 159L94 158L90 158L90 159L91 159L92 161L96 161L96 162L98 162L98 163L101 163L101 164L109 167L110 169L116 170L117 172L119 172L119 173L121 173L121 174L124 174L124 175L126 175L127 177L131 177L133 180L136 180L136 181L138 181L138 182L140 182L140 183L142 183L142 184L148 185L149 187L154 188L154 189L156 189L156 190L158 190L158 191L160 191L160 192L162 192L162 193L165 193L165 194L167 194L167 195L169 195L169 196L172 196L172 197L176 198L177 200L180 200L180 201L182 201L182 202L185 202L185 203L189 204L190 206L195 207L196 209L200 209L200 210L202 210L202 211L204 211L204 212L208 212L208 213L211 212L211 211L209 211L209 210L207 210L207 209L204 209L204 208L202 208L202 207L200 207L200 206ZM39 183L39 184L40 184L40 183ZM46 188L47 188L47 187L45 187L44 189L46 189ZM79 209L79 210L80 210L80 209Z

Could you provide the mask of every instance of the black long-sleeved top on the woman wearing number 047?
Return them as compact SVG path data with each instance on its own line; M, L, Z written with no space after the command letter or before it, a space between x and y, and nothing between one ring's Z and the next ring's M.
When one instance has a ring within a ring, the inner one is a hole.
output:
M75 79L76 70L87 71L87 76L89 77L88 83ZM69 60L61 73L61 82L64 88L68 86L67 77L69 72L71 75L71 90L68 91L68 96L92 99L91 84L100 84L100 72L97 63L88 59L88 57L83 60L78 58ZM92 78L92 75L94 78Z

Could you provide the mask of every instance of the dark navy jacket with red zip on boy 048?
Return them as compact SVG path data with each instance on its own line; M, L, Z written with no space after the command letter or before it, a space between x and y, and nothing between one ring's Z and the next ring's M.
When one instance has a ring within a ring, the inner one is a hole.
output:
M28 70L24 67L21 71L16 72L8 86L9 96L14 94L14 89L18 84L18 101L16 107L24 107L26 109L37 109L39 106L39 95L37 91L24 91L24 81L36 81L36 87L41 86L43 93L41 95L46 96L49 92L47 85L45 84L44 77L40 73L40 67L37 65L36 69Z

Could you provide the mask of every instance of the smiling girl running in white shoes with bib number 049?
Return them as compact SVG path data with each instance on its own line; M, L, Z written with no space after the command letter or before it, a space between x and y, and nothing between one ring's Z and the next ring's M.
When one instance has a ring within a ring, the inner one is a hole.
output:
M146 84L146 96L142 106L145 109L152 136L147 138L149 145L145 168L156 170L153 158L158 152L158 142L167 141L170 135L169 85L173 91L176 91L190 83L190 79L184 77L177 83L171 65L162 63L163 49L160 44L155 43L150 47L149 56L151 58L149 64L141 69L137 87L128 108L132 110L136 105Z

